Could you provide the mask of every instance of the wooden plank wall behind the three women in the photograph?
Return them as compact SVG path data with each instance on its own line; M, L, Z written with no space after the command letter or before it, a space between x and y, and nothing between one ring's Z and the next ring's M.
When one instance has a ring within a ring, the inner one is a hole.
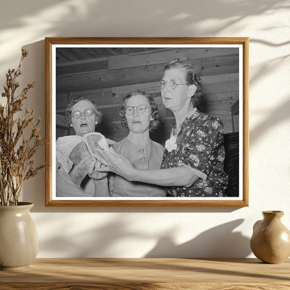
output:
M70 100L84 96L94 100L104 114L98 130L109 139L123 139L128 130L121 126L118 107L124 96L142 89L151 93L158 103L162 120L161 128L151 138L164 144L174 125L174 116L162 105L159 81L162 69L175 58L193 63L201 75L204 95L199 110L220 116L225 132L233 132L231 106L238 100L238 49L174 47L58 65L56 137L73 134L72 130L63 128L63 114Z

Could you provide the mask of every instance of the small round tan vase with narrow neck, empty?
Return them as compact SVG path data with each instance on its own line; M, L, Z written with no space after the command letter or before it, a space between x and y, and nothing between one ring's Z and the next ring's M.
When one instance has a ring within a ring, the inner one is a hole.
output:
M263 211L264 220L253 227L250 241L254 255L266 263L279 264L290 256L290 231L281 222L283 211Z

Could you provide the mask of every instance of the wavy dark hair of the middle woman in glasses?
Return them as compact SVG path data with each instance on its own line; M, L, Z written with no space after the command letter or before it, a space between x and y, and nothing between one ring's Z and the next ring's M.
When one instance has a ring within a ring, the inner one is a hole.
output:
M148 100L148 103L149 103L150 108L151 108L151 118L152 118L150 125L149 125L149 130L150 130L150 132L152 132L153 130L158 128L160 125L160 119L159 119L159 115L158 115L158 107L155 104L153 97L151 95L149 95L148 93L145 93L144 91L141 91L141 90L133 91L132 93L129 93L127 96L125 96L125 98L123 99L123 104L119 107L119 114L121 116L121 124L123 125L124 128L128 128L128 123L127 123L127 120L125 118L125 102L128 99L130 99L132 96L137 96L137 95L144 96Z

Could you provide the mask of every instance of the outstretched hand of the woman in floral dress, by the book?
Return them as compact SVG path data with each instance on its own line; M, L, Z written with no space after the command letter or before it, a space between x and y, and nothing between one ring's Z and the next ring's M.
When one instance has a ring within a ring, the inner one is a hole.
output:
M110 150L102 150L96 148L98 160L102 162L105 167L98 169L100 172L112 171L124 178L131 180L133 172L136 170L131 162L123 155L116 153L112 147Z

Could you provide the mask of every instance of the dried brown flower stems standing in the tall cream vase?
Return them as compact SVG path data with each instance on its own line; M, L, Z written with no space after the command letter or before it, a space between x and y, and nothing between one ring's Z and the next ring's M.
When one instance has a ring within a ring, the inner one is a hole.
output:
M20 199L22 184L27 179L35 176L38 170L46 165L35 166L31 160L38 146L44 143L39 135L40 119L33 116L34 109L26 109L20 114L27 92L35 83L16 93L20 87L17 77L22 75L21 66L23 59L28 55L22 49L22 57L18 68L8 70L6 84L3 86L2 98L6 98L6 105L0 105L0 205L17 206Z

